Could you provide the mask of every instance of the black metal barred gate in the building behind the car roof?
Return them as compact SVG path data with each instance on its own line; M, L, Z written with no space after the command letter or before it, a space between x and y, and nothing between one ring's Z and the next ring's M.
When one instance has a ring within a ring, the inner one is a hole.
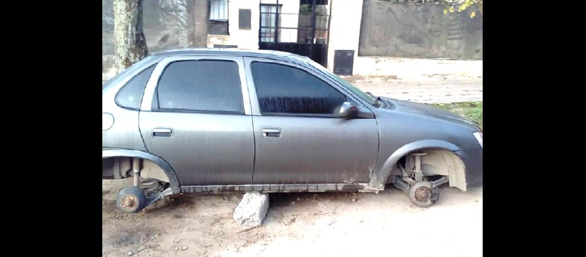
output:
M261 1L259 49L307 56L326 67L331 12L328 0L299 0L298 10L297 5L284 3L291 5L291 1Z

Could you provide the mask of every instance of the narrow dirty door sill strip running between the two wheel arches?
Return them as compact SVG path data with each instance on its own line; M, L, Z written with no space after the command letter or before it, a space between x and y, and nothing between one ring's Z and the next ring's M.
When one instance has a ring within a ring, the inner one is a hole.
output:
M227 193L239 191L258 191L262 193L361 191L377 193L379 190L382 189L373 189L368 185L368 183L181 186L182 193Z

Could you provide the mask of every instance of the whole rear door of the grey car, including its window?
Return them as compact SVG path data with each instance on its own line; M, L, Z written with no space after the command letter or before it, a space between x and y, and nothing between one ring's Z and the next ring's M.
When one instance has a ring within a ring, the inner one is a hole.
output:
M169 57L153 71L139 128L147 150L169 162L181 186L251 183L254 134L243 60Z

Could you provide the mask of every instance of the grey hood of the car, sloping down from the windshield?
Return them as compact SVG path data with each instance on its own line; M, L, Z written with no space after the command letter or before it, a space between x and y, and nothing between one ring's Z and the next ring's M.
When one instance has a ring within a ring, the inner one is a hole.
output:
M379 109L381 110L394 110L397 112L411 113L426 118L442 119L444 121L454 122L456 124L469 126L473 129L479 130L479 127L476 124L474 124L471 121L468 121L467 119L458 114L455 114L454 112L449 112L444 109L432 107L430 105L419 104L417 102L409 102L383 97L381 97L380 99L381 106L379 107Z

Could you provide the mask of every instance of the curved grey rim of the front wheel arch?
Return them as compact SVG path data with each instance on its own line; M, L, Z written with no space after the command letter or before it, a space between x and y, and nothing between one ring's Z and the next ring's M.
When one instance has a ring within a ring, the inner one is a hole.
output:
M452 152L462 150L453 143L448 143L437 139L425 139L408 143L407 145L401 146L401 148L393 152L385 160L383 165L377 167L374 170L372 176L370 176L369 186L383 190L384 185L387 183L387 178L391 174L393 168L397 166L397 162L399 159L401 159L401 157L407 155L407 153L426 148L446 149L451 150Z

